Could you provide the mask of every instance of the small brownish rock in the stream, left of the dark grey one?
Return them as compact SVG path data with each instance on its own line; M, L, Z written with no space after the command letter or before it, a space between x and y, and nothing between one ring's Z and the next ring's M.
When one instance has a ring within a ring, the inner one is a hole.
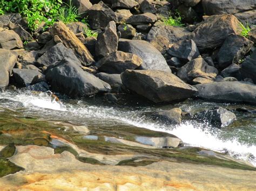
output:
M154 120L161 121L169 125L181 123L181 109L179 108L173 108L166 111L154 112L152 116Z

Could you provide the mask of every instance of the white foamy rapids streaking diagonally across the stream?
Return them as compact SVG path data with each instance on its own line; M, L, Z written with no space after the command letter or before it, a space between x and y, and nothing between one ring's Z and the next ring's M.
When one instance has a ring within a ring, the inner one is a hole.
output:
M32 95L31 93L11 95L9 93L2 93L0 94L0 99L20 102L25 108L29 108L30 110L40 111L40 109L51 109L61 111L60 113L54 112L52 117L57 116L58 119L62 120L74 120L89 125L90 123L98 125L126 124L171 133L183 140L188 146L198 146L219 152L227 151L231 156L250 161L256 166L256 145L242 144L236 138L222 140L219 138L219 135L224 132L221 132L219 129L211 132L210 129L203 128L203 125L200 125L200 123L194 124L187 121L178 126L167 126L157 122L151 122L141 115L143 112L148 111L145 109L121 110L120 108L86 105L81 102L78 102L77 105L64 105L62 102L56 102L47 93L37 95ZM8 107L8 105L6 106Z

